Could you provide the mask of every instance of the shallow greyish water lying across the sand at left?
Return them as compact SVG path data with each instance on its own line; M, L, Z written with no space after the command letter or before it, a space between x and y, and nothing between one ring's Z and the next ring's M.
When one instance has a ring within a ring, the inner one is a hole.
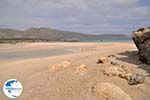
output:
M43 50L26 50L26 51L0 51L0 60L17 60L17 59L28 59L28 58L37 58L37 57L48 57L48 56L57 56L73 53L73 50L70 48L61 48L61 49L43 49Z

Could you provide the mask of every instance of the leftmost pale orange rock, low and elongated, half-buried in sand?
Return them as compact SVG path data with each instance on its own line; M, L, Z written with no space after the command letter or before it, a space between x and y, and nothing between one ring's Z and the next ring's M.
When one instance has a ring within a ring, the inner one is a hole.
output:
M68 62L68 61L63 61L63 62L61 62L60 64L53 64L53 65L50 66L50 71L51 71L51 70L58 70L58 69L60 69L60 68L66 68L66 67L68 67L70 64L71 64L71 63Z

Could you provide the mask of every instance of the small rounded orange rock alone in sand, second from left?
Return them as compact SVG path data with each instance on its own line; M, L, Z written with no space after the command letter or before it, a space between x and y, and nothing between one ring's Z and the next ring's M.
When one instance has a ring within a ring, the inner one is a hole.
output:
M80 66L78 66L75 71L76 74L80 74L80 75L86 74L87 72L88 72L88 68L85 64L81 64Z

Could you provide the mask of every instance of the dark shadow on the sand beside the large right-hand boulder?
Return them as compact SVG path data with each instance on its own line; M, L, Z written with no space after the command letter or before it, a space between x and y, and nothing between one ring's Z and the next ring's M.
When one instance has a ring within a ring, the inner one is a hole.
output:
M136 65L137 68L145 70L150 77L150 65L143 64L139 61L138 51L126 51L118 54L122 57L116 58L117 60Z

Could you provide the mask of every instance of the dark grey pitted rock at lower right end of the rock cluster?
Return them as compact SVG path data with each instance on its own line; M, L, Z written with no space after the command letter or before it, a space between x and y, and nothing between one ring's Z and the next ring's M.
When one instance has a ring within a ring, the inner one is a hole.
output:
M137 85L144 83L145 76L140 74L131 74L128 76L128 84L129 85Z

